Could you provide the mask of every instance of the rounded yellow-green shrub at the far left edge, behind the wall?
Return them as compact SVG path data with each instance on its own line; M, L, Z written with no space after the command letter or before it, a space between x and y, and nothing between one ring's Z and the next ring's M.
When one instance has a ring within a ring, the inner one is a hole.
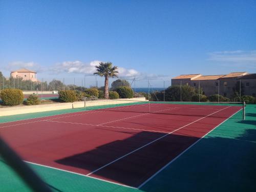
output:
M23 102L24 95L19 89L4 89L0 92L0 97L5 105L18 105Z

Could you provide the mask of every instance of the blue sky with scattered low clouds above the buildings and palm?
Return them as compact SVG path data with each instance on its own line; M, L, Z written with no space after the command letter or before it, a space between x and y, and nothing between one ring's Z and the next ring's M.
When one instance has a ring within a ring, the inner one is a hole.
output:
M122 76L256 73L256 1L3 1L0 66L88 78L98 61Z

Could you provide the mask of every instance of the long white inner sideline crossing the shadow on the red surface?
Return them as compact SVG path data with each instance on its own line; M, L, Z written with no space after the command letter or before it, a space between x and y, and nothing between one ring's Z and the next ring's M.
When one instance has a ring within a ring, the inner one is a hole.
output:
M227 108L230 108L230 106L227 106L227 107L224 108L224 109L221 109L221 110L219 110L219 111L217 111L217 112L211 113L211 114L209 114L209 115L207 115L207 116L205 116L205 117L202 117L202 118L200 118L200 119L198 119L198 120L195 120L195 121L190 122L190 123L188 123L188 124L186 124L186 125L184 125L184 126L181 126L181 127L179 127L178 129L176 129L176 130L174 130L174 131L172 131L172 132L169 132L169 133L163 135L162 137L159 137L159 138L157 138L157 139L155 139L155 140L153 140L153 141L151 141L151 142L149 142L149 143L147 143L147 144L145 144L145 145L143 145L143 146L137 148L136 150L134 150L134 151L132 151L132 152L130 152L130 153L127 153L127 154L125 154L125 155L123 155L123 156L121 156L121 157L115 159L114 161L111 161L110 163L105 164L105 165L103 165L103 166L101 166L101 167L99 167L99 168L93 170L93 172L87 174L87 176L92 175L93 173L97 172L98 170L100 170L100 169L102 169L102 168L104 168L104 167L106 167L106 166L109 166L109 165L111 165L112 163L114 163L114 162L116 162L116 161L118 161L118 160L120 160L120 159L122 159L122 158L124 158L124 157L126 157L126 156L128 156L128 155L133 154L134 152L140 150L141 148L144 148L145 146L150 145L150 144L152 144L152 143L158 141L159 139L162 139L162 138L166 137L166 136L169 135L169 134L172 134L172 133L174 133L174 132L176 132L176 131L178 131L178 130L180 130L180 129L182 129L182 128L184 128L184 127L190 125L190 124L193 124L193 123L195 123L195 122L197 122L197 121L199 121L199 120L201 120L201 119L204 119L204 118L206 118L206 117L208 117L208 116L210 116L210 115L213 115L213 114L215 114L215 113L218 113L218 112L220 112L220 111L222 111L222 110L225 110L225 109L227 109Z

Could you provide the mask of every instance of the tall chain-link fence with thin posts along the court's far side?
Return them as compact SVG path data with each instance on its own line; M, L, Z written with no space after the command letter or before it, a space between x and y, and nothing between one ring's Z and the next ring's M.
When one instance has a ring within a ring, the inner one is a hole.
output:
M205 82L178 82L172 85L171 80L141 79L131 78L109 78L108 86L111 91L120 86L128 86L134 91L134 97L146 97L153 101L242 101L243 95L255 97L255 87L246 84L247 81L238 81L233 86L221 87L220 82L211 85ZM50 94L54 91L77 90L85 91L88 88L96 88L103 91L105 79L103 77L62 77L62 78L38 78L36 82L23 80L22 78L0 78L0 90L7 88L21 89L23 91L33 91L38 94ZM169 89L167 89L169 88ZM235 89L236 88L236 89ZM225 90L229 90L229 95L225 95ZM254 90L254 91L253 91ZM210 92L211 94L207 94ZM29 92L28 92L29 93ZM56 92L54 92L56 93ZM222 94L223 93L223 94ZM210 95L218 95L216 98ZM223 96L225 98L223 98ZM226 99L226 97L228 97ZM226 99L226 100L225 100ZM229 100L228 100L229 99Z

